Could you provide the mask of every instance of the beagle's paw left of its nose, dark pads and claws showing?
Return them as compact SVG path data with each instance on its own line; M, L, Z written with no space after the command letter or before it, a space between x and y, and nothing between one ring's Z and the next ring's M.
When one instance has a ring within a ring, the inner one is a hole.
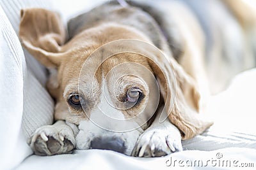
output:
M75 146L74 134L65 129L59 131L53 125L36 129L30 141L30 147L36 155L71 153Z

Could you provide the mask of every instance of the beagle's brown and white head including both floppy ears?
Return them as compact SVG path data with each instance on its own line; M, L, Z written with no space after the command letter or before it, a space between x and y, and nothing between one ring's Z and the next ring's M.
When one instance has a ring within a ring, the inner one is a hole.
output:
M200 95L193 79L143 32L108 23L66 42L58 14L31 8L22 10L21 17L22 43L56 70L47 83L56 99L54 117L79 125L77 148L131 155L150 120L164 112L183 139L211 125L196 114Z

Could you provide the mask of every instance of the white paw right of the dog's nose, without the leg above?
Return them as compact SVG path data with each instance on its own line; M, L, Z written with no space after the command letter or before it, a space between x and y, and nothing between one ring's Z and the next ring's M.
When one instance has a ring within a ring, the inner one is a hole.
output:
M162 157L180 151L182 151L180 135L156 129L141 134L132 155L134 157Z

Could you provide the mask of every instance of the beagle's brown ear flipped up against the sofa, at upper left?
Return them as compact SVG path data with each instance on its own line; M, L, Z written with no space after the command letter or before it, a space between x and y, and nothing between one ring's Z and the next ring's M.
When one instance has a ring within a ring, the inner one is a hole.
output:
M19 36L23 45L46 67L60 64L60 46L65 42L65 27L60 16L41 8L20 11Z

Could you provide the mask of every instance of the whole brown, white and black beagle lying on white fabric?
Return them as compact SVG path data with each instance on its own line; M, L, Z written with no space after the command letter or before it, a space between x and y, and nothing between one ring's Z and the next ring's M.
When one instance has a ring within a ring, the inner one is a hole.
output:
M72 18L68 34L54 11L22 10L20 39L49 69L47 89L56 100L56 122L35 131L33 152L161 157L181 151L181 140L212 125L198 113L208 89L223 88L216 78L226 82L255 64L244 36L255 22L246 20L241 4L109 1Z

